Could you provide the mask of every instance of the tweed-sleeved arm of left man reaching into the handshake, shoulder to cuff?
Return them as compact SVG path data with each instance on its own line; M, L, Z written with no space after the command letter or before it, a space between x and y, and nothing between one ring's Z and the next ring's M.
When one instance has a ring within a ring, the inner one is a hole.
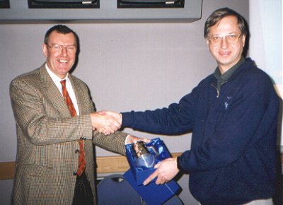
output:
M27 81L12 81L11 105L16 124L32 144L48 145L64 143L84 137L92 138L91 117L69 116L60 112L62 105L54 105L39 85ZM91 102L88 103L91 112Z

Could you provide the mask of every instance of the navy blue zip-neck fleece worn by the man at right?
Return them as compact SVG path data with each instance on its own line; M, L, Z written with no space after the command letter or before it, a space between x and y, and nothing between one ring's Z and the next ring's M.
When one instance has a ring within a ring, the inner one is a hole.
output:
M275 192L279 98L270 77L250 59L220 88L207 76L168 108L123 112L122 127L155 134L192 131L180 166L202 205L245 204Z

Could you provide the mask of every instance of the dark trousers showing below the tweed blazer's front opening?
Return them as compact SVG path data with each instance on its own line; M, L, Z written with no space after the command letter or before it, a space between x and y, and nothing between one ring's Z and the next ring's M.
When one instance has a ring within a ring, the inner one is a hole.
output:
M72 205L93 205L93 192L91 192L91 185L89 185L85 172L81 176L76 176L76 187Z

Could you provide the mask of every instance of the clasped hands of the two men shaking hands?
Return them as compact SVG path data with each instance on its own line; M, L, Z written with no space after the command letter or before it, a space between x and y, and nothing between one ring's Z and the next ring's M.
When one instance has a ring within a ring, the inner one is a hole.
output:
M113 134L122 125L122 115L117 112L100 111L91 113L93 130L105 135Z

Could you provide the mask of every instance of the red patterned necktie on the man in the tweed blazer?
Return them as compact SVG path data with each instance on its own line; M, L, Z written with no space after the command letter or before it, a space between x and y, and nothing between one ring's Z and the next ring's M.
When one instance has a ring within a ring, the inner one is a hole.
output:
M73 102L71 102L71 98L70 95L68 93L68 90L66 88L66 80L61 81L61 85L62 85L62 94L64 97L65 102L67 103L67 106L69 108L69 112L71 114L71 117L75 117L76 116L76 110L74 107ZM76 175L80 176L83 173L83 170L86 168L86 160L85 160L85 156L84 156L84 141L83 139L79 140L79 166L78 166L78 170L76 170Z

